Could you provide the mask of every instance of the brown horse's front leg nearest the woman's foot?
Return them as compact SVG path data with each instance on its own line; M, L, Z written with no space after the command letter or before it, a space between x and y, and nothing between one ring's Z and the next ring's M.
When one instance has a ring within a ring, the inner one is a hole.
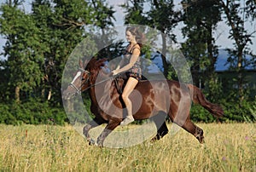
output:
M121 119L109 120L108 125L105 127L105 129L103 129L102 134L97 139L97 146L103 146L103 142L106 137L113 131L113 129L119 126L121 121Z

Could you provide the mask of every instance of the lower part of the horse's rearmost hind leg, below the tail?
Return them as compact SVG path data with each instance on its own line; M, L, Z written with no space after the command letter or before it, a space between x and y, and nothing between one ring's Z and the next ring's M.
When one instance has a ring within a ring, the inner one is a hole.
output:
M187 119L183 124L183 129L187 130L190 134L194 135L195 138L200 142L204 143L204 132L201 128L197 127L190 119Z

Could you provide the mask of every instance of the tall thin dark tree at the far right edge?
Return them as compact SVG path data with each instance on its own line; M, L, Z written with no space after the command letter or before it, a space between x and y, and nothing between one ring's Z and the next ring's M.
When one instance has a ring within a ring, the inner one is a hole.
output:
M245 2L245 1L244 1ZM228 26L230 26L230 38L234 40L234 49L227 49L230 57L230 70L237 72L235 96L239 100L239 105L242 106L242 101L247 99L247 81L244 79L243 71L248 65L255 66L255 55L253 60L247 60L246 55L252 54L248 48L252 43L252 37L256 31L249 32L245 23L248 19L255 19L255 1L246 1L246 7L241 6L241 1L227 0L219 1L219 4L224 12L224 18Z

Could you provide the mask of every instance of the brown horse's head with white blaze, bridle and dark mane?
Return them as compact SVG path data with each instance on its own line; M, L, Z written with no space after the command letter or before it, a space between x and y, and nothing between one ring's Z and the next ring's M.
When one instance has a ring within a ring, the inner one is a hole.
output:
M74 95L81 94L84 90L89 89L96 82L96 76L104 66L105 60L96 60L93 58L87 62L79 61L79 70L76 72L73 81L69 83L63 92L63 99L70 100ZM87 64L87 65L86 65Z

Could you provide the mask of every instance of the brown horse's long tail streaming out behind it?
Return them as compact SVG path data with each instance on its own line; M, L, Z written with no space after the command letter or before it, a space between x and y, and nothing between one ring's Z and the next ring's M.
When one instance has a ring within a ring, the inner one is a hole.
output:
M208 112L212 113L217 118L224 116L224 111L221 106L209 102L201 90L192 84L188 84L189 92L194 103L198 103L207 109Z

